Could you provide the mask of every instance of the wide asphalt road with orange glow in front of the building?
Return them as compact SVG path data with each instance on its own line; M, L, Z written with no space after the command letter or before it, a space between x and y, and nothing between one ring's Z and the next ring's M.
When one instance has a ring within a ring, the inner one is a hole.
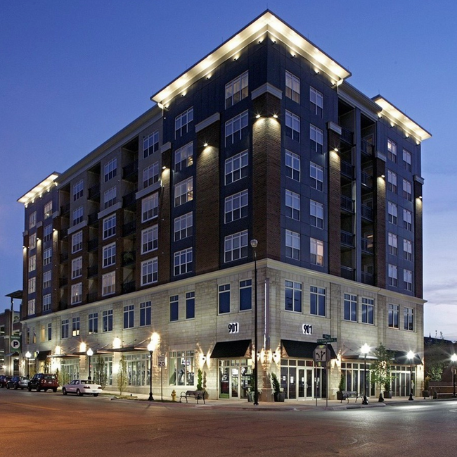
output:
M1 456L453 457L457 401L246 411L0 389Z

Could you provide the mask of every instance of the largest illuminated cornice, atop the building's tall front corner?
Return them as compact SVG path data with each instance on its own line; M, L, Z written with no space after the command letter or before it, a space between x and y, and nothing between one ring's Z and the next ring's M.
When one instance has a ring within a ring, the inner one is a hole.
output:
M198 63L195 63L186 72L182 73L159 92L150 97L151 100L167 107L169 102L178 94L185 94L186 89L202 77L211 77L212 72L229 58L237 58L238 53L252 42L262 42L266 37L273 41L281 41L289 46L290 54L300 54L314 65L316 72L326 73L335 84L349 77L351 73L339 63L321 51L315 44L309 42L290 25L284 23L271 11L266 11L252 23L240 30L236 35L229 38L217 49L212 51Z

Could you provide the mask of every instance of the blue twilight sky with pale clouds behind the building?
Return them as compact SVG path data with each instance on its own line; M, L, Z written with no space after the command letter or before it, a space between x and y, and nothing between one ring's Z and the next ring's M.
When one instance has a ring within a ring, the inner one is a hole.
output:
M442 0L1 0L0 311L22 289L16 200L266 8L351 71L357 89L432 133L422 149L424 334L457 340L457 2Z

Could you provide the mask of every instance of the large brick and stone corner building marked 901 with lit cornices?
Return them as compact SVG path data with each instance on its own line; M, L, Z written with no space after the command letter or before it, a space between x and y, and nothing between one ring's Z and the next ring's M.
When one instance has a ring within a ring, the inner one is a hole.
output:
M289 399L363 392L364 343L423 379L420 144L430 134L266 11L156 92L157 106L25 204L24 350L37 369L246 398L259 353ZM258 348L254 344L257 239ZM313 361L323 334L330 380ZM370 354L368 354L368 357ZM416 366L418 365L418 366ZM98 368L97 368L98 367ZM159 368L153 385L160 385ZM376 387L377 388L377 387ZM377 394L371 387L371 395Z

